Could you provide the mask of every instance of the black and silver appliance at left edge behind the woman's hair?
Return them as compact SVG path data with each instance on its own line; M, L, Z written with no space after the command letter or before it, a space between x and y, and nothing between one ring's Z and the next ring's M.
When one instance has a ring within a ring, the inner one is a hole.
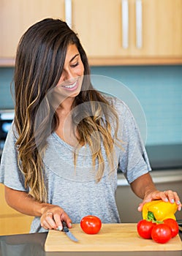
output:
M0 110L0 157L14 116L14 110Z

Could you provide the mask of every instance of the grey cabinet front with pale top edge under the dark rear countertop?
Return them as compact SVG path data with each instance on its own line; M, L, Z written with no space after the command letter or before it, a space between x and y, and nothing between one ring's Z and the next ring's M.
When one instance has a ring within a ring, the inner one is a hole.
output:
M171 170L153 170L151 177L160 191L171 189L178 192L182 200L182 168ZM127 200L126 196L127 195ZM142 214L137 211L141 199L134 195L132 189L124 178L123 173L118 173L118 188L116 190L116 203L121 217L121 222L138 222ZM132 207L132 211L131 211ZM177 211L176 219L182 219L182 211ZM181 255L182 256L182 255Z

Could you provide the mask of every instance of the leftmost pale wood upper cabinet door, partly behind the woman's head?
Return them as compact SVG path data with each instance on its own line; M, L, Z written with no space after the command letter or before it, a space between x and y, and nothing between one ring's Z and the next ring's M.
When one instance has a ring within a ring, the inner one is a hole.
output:
M64 0L1 0L0 56L15 57L20 37L43 18L64 18Z

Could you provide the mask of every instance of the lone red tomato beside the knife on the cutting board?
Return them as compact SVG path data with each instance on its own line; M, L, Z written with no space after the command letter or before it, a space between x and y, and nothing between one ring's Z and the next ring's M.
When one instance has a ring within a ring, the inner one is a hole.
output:
M81 219L80 226L85 233L96 234L101 229L102 222L98 217L88 215L86 217L83 217L83 219Z

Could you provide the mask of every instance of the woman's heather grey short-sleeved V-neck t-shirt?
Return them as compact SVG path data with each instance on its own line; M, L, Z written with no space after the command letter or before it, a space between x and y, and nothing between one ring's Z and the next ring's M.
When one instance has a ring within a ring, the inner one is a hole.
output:
M96 181L96 170L92 167L91 150L88 145L81 147L77 152L75 167L75 148L61 140L56 132L48 137L48 147L43 158L48 203L64 208L73 223L79 223L82 217L88 214L96 215L103 223L121 222L115 203L118 169L124 173L129 184L151 170L131 111L124 102L114 98L108 99L112 100L118 113L118 137L124 143L121 143L123 149L118 144L115 145L112 172L104 147L101 145L105 160L105 172L101 181ZM15 148L16 138L13 130L15 126L12 124L1 157L0 183L12 189L28 192L24 187L23 174L18 168L18 151ZM39 217L35 217L30 232L45 231L48 230L40 226Z

